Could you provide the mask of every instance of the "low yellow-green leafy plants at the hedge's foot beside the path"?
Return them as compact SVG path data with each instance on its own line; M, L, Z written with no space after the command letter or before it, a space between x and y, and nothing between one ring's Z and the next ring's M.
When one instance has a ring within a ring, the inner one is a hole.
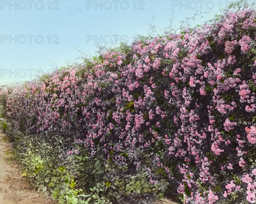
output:
M132 106L127 104L128 108ZM169 185L163 179L151 184L148 172L138 172L132 176L123 174L129 170L127 166L113 164L111 159L105 161L102 154L91 158L84 147L76 146L74 148L79 149L78 155L64 157L68 149L60 136L15 133L22 135L15 142L15 153L17 161L23 166L23 176L38 190L49 192L59 204L113 204L113 201L126 203L137 200L145 203L143 199L163 193ZM145 164L151 163L153 153L143 153L139 149L137 153L143 156ZM120 156L128 158L128 153L121 153ZM164 173L162 168L153 171L156 174ZM116 174L113 175L113 172ZM161 196L163 194L158 198Z

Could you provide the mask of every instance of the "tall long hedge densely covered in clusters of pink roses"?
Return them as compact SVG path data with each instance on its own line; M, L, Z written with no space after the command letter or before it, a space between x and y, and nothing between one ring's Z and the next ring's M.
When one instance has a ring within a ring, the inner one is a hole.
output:
M106 202L171 192L185 203L254 203L255 19L229 11L2 91L9 117L30 135L73 141L62 156L87 155L87 185Z

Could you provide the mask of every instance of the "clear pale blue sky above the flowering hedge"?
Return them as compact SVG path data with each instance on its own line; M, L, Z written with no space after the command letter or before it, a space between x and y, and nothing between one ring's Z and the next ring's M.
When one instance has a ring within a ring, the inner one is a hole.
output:
M189 21L189 26L203 24L228 5L225 0L1 0L0 85L80 63L96 54L97 43L131 43L136 34L148 34L149 24L170 26L172 15L178 27L186 17L207 12Z

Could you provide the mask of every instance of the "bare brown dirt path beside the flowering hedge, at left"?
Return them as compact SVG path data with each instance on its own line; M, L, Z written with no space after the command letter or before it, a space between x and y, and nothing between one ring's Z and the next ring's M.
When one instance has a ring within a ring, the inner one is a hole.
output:
M32 190L10 151L11 144L0 130L0 204L54 204L49 197Z

